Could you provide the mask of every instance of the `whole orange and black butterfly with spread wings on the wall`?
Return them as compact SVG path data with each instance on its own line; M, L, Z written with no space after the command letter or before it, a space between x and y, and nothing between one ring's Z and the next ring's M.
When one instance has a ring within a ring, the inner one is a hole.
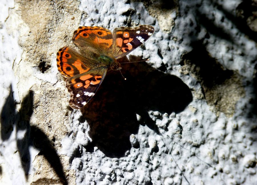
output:
M99 26L80 26L72 37L80 52L65 46L57 52L56 59L58 71L67 78L70 106L79 109L87 104L108 69L121 69L117 59L143 44L153 32L149 25L115 28L113 33Z

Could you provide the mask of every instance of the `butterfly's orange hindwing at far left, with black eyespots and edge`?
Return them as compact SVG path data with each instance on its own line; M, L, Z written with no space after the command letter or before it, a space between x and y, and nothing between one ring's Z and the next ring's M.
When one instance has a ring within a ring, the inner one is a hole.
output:
M65 77L85 73L94 66L91 59L85 58L72 48L65 46L57 52L58 71Z

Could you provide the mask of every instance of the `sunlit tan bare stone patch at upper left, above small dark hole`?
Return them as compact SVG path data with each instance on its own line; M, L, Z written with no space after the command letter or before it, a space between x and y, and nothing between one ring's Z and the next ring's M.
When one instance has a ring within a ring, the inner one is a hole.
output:
M51 66L51 55L71 43L78 28L81 12L79 1L16 1L18 14L29 27L26 37L21 36L27 61L35 65L46 62Z

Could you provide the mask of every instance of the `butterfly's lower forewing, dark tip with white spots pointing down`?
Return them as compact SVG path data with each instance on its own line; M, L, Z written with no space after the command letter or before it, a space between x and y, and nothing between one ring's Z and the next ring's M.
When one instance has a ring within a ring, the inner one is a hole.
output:
M106 73L106 67L99 67L67 79L66 87L71 94L70 106L79 109L89 102L101 85Z

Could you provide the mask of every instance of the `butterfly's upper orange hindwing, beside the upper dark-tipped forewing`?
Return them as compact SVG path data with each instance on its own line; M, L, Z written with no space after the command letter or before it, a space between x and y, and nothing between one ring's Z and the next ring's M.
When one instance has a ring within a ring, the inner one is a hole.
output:
M95 52L109 53L113 44L110 30L99 26L80 26L73 34L72 40L81 50L94 48Z

